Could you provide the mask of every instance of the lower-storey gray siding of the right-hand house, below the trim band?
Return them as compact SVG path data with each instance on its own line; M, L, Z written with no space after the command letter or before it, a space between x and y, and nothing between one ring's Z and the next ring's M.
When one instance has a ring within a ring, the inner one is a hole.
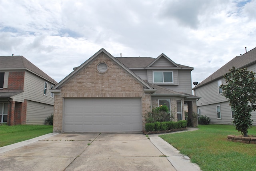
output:
M220 105L221 119L217 119L216 106ZM216 103L211 105L198 106L200 109L201 115L206 115L210 117L210 124L226 124L232 125L232 115L231 108L228 102ZM253 125L256 126L256 111L251 112L253 119Z

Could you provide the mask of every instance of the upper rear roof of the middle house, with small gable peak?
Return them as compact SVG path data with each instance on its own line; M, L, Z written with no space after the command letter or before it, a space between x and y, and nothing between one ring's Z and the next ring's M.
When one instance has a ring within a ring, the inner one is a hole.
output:
M151 58L151 57L116 57L116 59L119 62L122 62L122 64L124 64L129 69L135 69L135 68L145 69L145 68L148 68L148 67L152 66L161 57L166 58L168 61L170 61L172 64L174 64L175 67L177 67L179 69L194 70L194 68L192 68L192 67L176 64L175 62L170 60L170 58L168 58L164 54L161 54L160 56L158 56L158 58Z

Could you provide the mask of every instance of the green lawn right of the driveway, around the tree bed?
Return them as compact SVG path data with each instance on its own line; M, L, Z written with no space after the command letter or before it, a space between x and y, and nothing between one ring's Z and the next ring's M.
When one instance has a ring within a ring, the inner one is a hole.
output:
M255 171L256 145L227 141L240 135L233 125L199 125L197 131L160 135L203 171ZM256 127L248 130L256 135Z

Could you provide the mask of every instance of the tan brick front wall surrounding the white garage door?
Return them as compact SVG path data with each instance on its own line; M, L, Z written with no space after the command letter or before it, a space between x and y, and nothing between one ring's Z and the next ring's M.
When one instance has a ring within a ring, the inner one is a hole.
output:
M101 62L108 66L104 74L97 70ZM62 130L62 98L65 97L141 97L142 115L151 105L150 95L144 95L143 86L104 53L64 84L60 95L55 95L54 132ZM144 129L144 116L142 121Z

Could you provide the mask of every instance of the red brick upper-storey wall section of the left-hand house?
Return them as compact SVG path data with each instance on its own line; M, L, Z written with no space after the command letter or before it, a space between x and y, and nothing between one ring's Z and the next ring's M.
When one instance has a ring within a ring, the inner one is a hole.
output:
M9 72L8 89L22 89L24 88L25 72Z

